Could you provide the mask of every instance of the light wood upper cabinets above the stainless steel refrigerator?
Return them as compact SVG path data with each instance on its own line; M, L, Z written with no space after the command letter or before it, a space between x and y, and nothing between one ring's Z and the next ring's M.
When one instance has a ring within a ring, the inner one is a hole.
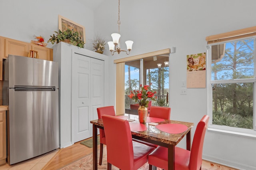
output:
M0 80L3 79L3 59L6 59L9 54L28 57L30 50L38 51L38 57L36 57L38 59L53 61L52 48L42 47L40 45L26 43L0 36Z

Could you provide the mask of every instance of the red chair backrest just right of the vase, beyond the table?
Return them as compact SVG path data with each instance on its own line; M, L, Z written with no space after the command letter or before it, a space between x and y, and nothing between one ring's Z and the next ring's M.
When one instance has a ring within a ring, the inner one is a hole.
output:
M170 119L171 108L170 107L160 107L151 106L149 117L157 117L161 119Z

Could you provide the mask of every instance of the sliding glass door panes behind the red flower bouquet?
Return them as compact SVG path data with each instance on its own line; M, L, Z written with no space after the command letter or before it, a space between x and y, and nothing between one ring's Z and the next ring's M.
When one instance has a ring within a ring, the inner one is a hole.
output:
M150 85L156 91L157 100L152 101L153 106L168 107L169 54L125 62L125 109L136 104L128 95L131 90L139 90L140 84Z

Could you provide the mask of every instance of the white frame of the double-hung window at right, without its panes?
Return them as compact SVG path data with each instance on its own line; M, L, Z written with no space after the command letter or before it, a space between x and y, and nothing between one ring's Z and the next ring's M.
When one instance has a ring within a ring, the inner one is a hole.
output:
M222 43L228 43L238 40L245 40L249 38L254 38L254 78L252 79L230 79L230 80L212 80L212 45L218 45ZM210 43L207 45L207 75L208 75L208 115L210 117L208 122L209 130L219 131L219 132L227 132L227 133L234 133L234 134L242 134L242 135L253 135L256 137L256 36L251 37L243 37L243 38L233 38L232 40L222 41L217 43ZM253 89L253 129L246 129L246 128L238 128L238 127L229 127L224 125L213 125L212 124L212 85L213 84L220 84L220 83L254 83Z

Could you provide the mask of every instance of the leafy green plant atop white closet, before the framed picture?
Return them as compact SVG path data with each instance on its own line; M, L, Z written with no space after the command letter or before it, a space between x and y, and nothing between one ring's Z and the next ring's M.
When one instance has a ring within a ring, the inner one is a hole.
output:
M52 44L54 44L55 42L66 42L81 48L84 47L84 41L82 40L78 32L70 29L67 29L63 32L61 30L59 30L58 32L54 32L56 33L56 35L53 34L52 36L50 36L51 38L48 40L48 42L51 42Z

